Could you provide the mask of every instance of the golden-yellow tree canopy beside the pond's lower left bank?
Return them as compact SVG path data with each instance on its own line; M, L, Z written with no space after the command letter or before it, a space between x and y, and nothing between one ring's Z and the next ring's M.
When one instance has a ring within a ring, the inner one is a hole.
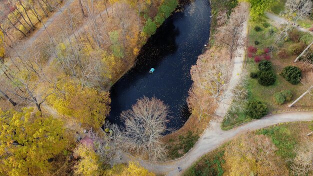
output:
M110 110L109 92L83 87L69 76L59 77L58 91L47 101L60 113L80 122L85 127L98 129Z

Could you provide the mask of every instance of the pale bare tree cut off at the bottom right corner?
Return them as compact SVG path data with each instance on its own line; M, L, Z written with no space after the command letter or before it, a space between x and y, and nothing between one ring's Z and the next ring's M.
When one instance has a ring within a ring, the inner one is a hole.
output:
M296 150L296 156L290 165L294 175L305 176L313 171L313 143L307 144Z

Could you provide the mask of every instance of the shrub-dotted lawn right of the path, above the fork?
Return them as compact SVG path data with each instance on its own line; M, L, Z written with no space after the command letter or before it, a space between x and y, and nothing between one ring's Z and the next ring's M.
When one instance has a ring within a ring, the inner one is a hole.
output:
M275 113L285 110L297 110L297 109L304 109L309 110L313 109L313 97L312 96L305 96L301 99L297 104L289 108L287 104L289 102L285 102L284 104L276 104L273 98L273 94L282 90L290 90L293 94L292 100L299 97L304 91L306 91L305 87L302 84L293 85L286 81L282 76L279 75L281 70L288 65L299 66L301 68L300 63L293 63L293 60L296 58L297 55L288 54L284 58L279 58L278 52L282 49L289 50L294 44L298 44L290 39L287 39L283 42L275 43L275 37L279 32L279 29L270 25L268 27L264 27L264 24L267 23L266 19L263 18L261 22L254 23L250 22L249 25L249 34L248 34L248 46L254 46L258 49L263 48L272 48L272 51L268 54L270 55L270 61L272 62L272 70L276 75L276 81L273 85L270 86L262 86L258 83L257 79L252 79L248 77L247 79L247 86L246 89L248 90L248 100L260 100L265 102L268 107L269 113ZM254 27L259 26L261 27L260 31L255 31ZM307 35L305 33L299 32L301 36ZM308 40L313 40L313 36L307 35L309 37ZM255 45L255 42L258 42ZM249 58L246 55L245 59L245 72L249 74L250 72L258 72L258 63L256 63L252 58ZM312 79L312 74L310 71L303 71L303 77L307 78L308 80ZM291 100L291 101L292 101ZM233 112L229 112L229 115L223 119L221 128L224 130L231 129L234 126L237 126L243 122L247 122L252 120L248 115L246 115L245 111L242 110L234 110Z

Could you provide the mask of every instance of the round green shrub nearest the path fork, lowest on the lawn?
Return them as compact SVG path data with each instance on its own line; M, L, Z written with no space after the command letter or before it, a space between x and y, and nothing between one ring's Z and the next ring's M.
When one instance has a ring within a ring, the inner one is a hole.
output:
M267 105L261 101L250 100L247 103L247 114L254 119L259 119L267 114Z

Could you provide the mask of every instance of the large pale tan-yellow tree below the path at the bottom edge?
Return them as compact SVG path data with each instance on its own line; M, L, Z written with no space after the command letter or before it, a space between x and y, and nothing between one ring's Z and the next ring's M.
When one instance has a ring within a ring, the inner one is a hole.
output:
M265 135L246 133L233 140L225 150L224 175L288 175L277 148Z

